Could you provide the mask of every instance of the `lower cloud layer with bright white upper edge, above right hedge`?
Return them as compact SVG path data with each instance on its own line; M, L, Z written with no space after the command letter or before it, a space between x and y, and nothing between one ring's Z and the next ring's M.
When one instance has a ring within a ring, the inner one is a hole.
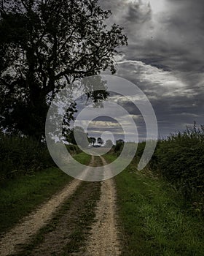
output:
M135 83L152 103L161 135L182 130L193 121L203 124L203 75L187 73L187 77L181 79L179 74L140 61L119 64L118 75ZM195 86L189 86L192 83L189 78L194 80ZM137 113L128 102L125 108L130 113Z

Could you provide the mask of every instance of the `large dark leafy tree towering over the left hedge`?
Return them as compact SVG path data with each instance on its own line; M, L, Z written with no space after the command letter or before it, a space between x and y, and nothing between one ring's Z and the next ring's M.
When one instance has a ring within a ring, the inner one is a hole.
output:
M114 69L122 28L98 0L0 0L0 121L41 138L50 101L74 80ZM95 102L106 97L88 94ZM68 109L68 121L75 105Z

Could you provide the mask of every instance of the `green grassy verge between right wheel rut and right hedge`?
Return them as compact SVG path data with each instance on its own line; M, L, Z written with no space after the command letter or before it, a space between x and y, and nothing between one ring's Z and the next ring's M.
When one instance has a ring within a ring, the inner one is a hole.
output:
M203 255L204 222L166 181L136 171L133 164L115 181L122 255Z

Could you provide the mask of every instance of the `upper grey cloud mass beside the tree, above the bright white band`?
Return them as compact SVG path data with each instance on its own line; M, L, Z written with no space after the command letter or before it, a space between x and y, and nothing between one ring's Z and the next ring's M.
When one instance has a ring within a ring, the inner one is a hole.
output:
M127 59L165 69L203 72L204 1L164 0L166 9L152 12L143 1L101 1L112 20L125 27Z

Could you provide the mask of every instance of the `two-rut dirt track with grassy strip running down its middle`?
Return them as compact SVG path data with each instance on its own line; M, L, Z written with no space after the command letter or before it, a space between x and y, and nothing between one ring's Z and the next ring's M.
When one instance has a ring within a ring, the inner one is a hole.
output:
M106 165L106 161L102 157L101 162L103 162L103 165ZM94 164L94 160L92 159L90 166L94 166ZM52 222L53 214L58 211L60 206L69 197L76 193L77 189L82 187L81 185L82 181L75 179L63 190L58 192L58 194L54 195L47 203L44 203L41 208L34 211L34 213L13 227L0 241L0 255L7 256L18 252L20 247L17 244L29 244L31 238L34 238L34 235L47 222ZM41 244L34 248L30 252L30 255L53 255L53 253L55 255L62 255L65 244L71 241L69 236L71 236L71 232L74 232L76 223L81 221L80 216L83 214L85 202L91 201L91 196L97 189L101 189L101 197L96 205L95 222L90 227L89 233L85 231L87 234L85 245L83 244L81 246L79 252L68 253L66 255L117 256L120 254L116 223L117 210L115 206L116 190L114 180L101 181L101 183L87 182L82 189L83 191L74 197L74 202L70 208L59 217L55 230L47 233Z

